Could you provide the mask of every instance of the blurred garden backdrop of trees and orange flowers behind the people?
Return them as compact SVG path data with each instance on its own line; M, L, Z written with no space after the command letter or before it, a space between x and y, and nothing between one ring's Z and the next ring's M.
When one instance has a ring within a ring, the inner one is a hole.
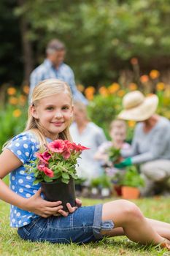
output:
M1 0L0 20L1 145L23 130L29 75L55 37L107 138L127 91L158 94L158 113L170 118L170 1Z

